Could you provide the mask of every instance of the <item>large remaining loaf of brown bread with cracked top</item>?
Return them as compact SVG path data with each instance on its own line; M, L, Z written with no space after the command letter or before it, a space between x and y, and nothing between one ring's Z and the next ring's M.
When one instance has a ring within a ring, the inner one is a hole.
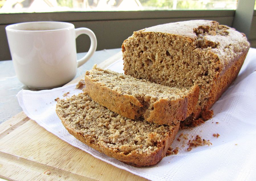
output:
M124 73L171 87L198 85L191 114L198 118L235 79L249 47L243 33L215 21L157 25L135 31L123 42Z

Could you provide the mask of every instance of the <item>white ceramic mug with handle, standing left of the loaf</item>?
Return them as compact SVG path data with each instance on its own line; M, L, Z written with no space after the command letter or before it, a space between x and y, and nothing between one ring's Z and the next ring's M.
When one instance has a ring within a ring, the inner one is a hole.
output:
M93 31L75 29L67 22L25 22L5 29L17 77L31 88L48 89L69 82L97 47ZM91 45L77 60L75 39L81 34L90 37Z

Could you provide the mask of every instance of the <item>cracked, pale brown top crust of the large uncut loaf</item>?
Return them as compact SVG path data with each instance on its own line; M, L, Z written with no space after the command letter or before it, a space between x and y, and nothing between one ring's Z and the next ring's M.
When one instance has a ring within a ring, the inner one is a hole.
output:
M193 47L193 51L203 50L212 53L213 58L218 58L221 67L225 67L225 69L230 67L233 59L239 57L250 47L243 33L210 20L191 20L156 25L135 31L133 36L152 33L159 37L173 36L177 41L180 40L179 37L185 39Z

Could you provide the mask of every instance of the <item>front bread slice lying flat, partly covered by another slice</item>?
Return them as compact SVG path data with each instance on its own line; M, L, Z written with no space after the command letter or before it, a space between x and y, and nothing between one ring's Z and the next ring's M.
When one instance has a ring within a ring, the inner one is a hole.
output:
M87 93L59 99L56 113L74 137L128 165L155 165L165 156L179 129L122 117L93 101Z

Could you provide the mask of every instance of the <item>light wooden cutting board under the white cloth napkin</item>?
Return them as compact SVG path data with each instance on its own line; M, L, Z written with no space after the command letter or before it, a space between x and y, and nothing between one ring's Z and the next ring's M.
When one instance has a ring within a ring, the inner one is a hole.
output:
M121 52L99 66L120 59ZM69 82L75 83L84 75ZM7 180L147 180L114 167L40 127L20 112L0 125L0 178Z

